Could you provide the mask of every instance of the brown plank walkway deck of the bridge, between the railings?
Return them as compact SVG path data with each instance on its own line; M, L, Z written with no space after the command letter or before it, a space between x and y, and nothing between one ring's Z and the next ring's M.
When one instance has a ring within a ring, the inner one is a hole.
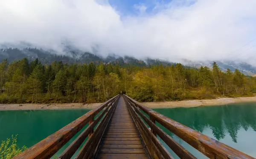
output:
M96 158L149 159L123 97L119 98Z

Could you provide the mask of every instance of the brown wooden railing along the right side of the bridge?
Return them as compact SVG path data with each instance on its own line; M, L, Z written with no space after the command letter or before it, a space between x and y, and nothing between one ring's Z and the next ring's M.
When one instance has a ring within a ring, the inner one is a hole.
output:
M195 156L189 153L184 147L178 144L174 139L172 139L172 137L158 127L156 125L156 121L211 159L254 159L239 150L218 142L215 139L143 106L127 95L124 95L124 97L128 109L133 116L134 122L141 133L146 149L153 159L173 158L168 150L166 150L166 148L157 139L157 136L159 136L163 142L165 142L166 145L168 145L181 159L196 159ZM143 112L147 114L149 118L145 116ZM148 124L150 129L145 123Z

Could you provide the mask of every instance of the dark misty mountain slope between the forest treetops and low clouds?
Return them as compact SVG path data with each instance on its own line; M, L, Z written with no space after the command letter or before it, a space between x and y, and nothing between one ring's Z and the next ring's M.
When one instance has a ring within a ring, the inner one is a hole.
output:
M175 64L169 61L162 61L159 59L151 59L147 58L145 60L139 60L134 57L120 57L118 55L108 55L106 58L103 58L99 55L94 55L90 52L83 52L79 49L74 49L70 47L65 47L63 52L57 52L55 50L44 50L32 47L26 47L23 49L18 48L5 48L0 49L0 61L3 59L8 59L9 62L21 60L22 58L28 58L29 61L35 60L38 58L43 64L50 64L53 61L62 61L63 63L90 63L93 62L95 64L103 63L116 63L120 66L125 64L132 64L135 66L154 66L154 65L163 65L170 66ZM256 75L256 67L247 64L247 63L234 63L230 61L216 61L220 66L222 71L226 71L230 69L231 71L235 71L235 69L239 69L242 73L246 75ZM213 61L189 61L183 59L181 62L183 65L192 66L199 68L200 66L208 66L212 67Z

